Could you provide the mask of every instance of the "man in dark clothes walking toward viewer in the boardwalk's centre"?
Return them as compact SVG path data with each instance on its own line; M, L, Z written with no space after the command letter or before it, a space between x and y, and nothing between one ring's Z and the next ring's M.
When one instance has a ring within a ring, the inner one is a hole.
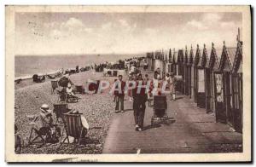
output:
M137 86L135 89L132 89L133 95L133 110L134 110L134 119L136 124L137 131L143 130L144 115L146 109L147 93L146 85L143 81L142 74L138 75Z

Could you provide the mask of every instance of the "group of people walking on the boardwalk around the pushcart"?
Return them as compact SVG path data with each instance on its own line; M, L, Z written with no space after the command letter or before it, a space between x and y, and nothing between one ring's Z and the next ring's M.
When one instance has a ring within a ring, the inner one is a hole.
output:
M136 124L136 130L143 130L143 119L146 109L146 101L153 99L154 95L162 95L162 87L164 82L166 82L166 89L169 90L171 94L171 100L175 101L175 87L176 87L176 78L173 73L167 73L166 76L160 78L160 69L157 69L154 72L154 78L150 79L148 74L145 74L144 77L142 73L132 72L129 74L129 81L134 81L136 86L133 89L128 89L127 93L129 96L129 101L133 102L134 110L134 119ZM114 91L115 101L115 111L124 112L124 99L125 99L125 87L129 87L130 82L123 81L123 76L119 75L118 79L115 80L116 88L120 86L121 91ZM137 91L139 89L139 91Z

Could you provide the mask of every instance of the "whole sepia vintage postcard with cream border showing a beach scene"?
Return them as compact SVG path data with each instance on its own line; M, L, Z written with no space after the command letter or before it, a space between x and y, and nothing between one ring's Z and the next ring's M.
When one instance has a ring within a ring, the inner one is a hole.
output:
M6 6L7 162L250 162L250 6Z

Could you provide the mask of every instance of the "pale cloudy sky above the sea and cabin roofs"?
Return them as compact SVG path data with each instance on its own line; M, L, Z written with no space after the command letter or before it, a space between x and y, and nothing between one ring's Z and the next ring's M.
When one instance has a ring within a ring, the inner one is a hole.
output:
M16 55L236 46L241 13L16 13Z

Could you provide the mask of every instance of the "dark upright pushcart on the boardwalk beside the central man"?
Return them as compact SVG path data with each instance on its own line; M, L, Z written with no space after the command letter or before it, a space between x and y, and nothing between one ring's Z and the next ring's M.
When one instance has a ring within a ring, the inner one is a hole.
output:
M155 125L160 121L168 119L166 114L167 109L167 102L166 102L166 95L154 95L154 114L151 118L151 125Z

